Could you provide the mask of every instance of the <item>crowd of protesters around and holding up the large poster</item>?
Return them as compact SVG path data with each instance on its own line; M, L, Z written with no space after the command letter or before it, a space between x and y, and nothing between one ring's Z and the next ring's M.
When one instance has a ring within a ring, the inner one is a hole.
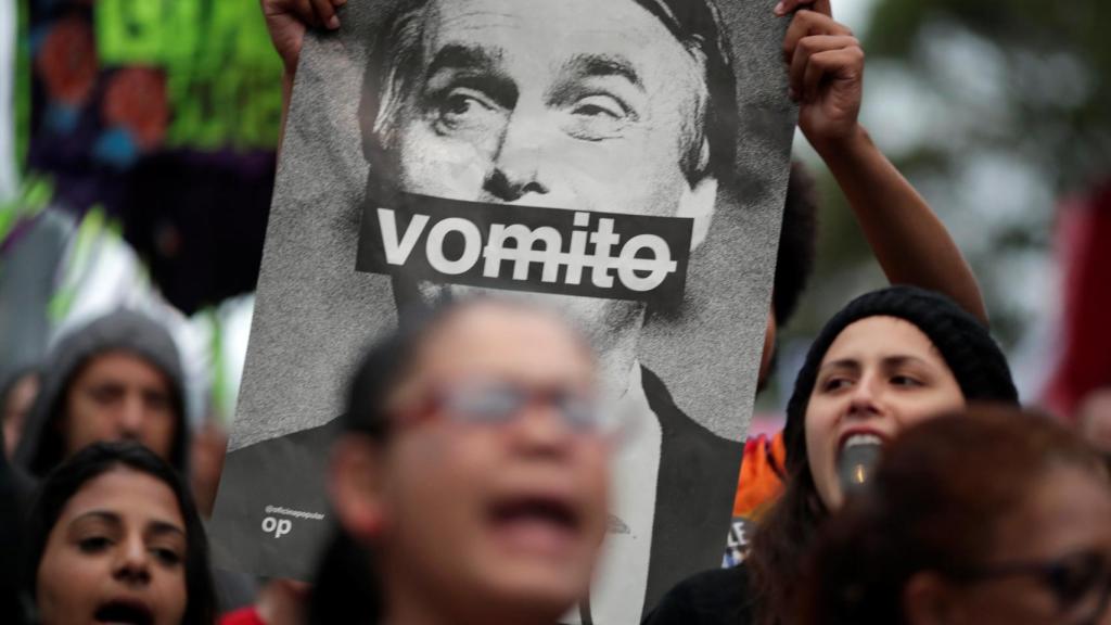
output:
M263 0L292 83L306 28L344 0ZM802 133L891 286L814 338L784 429L745 448L728 568L645 623L1111 623L1111 399L1024 409L979 287L933 211L858 121L864 57L828 0L784 0ZM288 96L288 90L287 90ZM287 102L288 103L288 102ZM794 165L760 366L813 258ZM226 436L188 415L196 369L163 319L68 328L2 383L0 621L548 625L587 597L621 423L589 341L482 296L402 316L347 385L328 475L334 535L309 582L212 567ZM723 528L724 529L724 528ZM724 536L722 536L724 547ZM740 562L739 562L740 560Z

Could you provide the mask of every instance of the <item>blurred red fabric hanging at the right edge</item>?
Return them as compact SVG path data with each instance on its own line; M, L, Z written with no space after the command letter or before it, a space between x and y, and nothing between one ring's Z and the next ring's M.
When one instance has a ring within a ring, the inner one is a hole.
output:
M1111 386L1111 181L1062 206L1062 348L1045 404L1071 416L1092 390Z

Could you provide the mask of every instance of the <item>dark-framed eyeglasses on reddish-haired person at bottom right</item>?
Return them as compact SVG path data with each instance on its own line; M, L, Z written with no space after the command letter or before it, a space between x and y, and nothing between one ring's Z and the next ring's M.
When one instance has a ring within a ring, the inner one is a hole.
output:
M951 572L969 582L1028 576L1037 578L1057 599L1061 614L1077 615L1077 625L1094 625L1111 598L1111 558L1094 550L1074 552L1044 562L1017 562Z

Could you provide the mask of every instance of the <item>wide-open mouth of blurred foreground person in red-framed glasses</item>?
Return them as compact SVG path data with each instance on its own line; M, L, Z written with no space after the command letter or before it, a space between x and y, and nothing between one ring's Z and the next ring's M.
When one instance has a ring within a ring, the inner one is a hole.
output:
M579 510L564 498L544 495L507 497L490 507L490 524L514 550L556 555L582 528Z

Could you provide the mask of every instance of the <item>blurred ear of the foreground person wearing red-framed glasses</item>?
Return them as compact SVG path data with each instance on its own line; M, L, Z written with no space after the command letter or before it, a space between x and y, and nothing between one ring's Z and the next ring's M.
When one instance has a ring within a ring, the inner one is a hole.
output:
M340 525L362 543L372 542L386 520L382 449L369 436L346 434L332 447L328 489Z

